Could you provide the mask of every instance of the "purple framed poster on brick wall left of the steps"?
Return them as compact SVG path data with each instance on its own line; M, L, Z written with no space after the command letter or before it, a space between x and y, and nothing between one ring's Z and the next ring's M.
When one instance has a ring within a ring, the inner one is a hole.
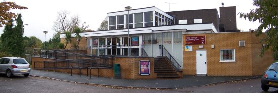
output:
M139 75L150 75L150 61L139 61Z

